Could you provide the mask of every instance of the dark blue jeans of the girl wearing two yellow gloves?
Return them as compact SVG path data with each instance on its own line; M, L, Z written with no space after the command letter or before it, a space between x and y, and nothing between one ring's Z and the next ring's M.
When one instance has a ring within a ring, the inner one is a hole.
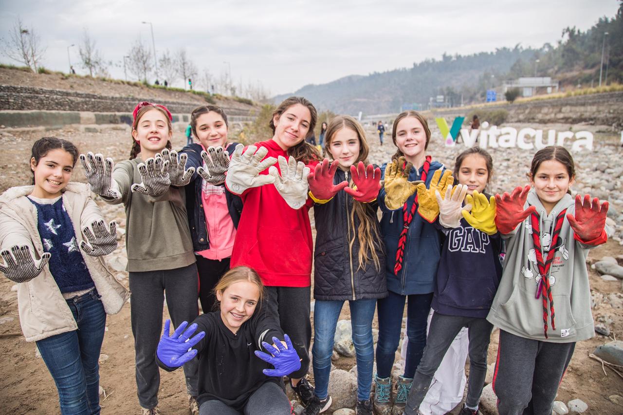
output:
M376 344L376 373L389 378L394 366L402 329L402 313L407 300L407 358L404 377L412 379L426 347L426 323L433 293L400 295L389 291L378 301L379 341Z

